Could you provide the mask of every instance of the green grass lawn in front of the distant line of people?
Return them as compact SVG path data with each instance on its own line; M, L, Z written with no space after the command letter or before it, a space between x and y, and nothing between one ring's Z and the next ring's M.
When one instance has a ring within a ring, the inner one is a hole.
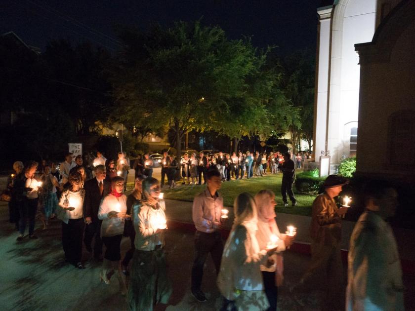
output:
M297 199L297 206L286 208L283 205L281 199L281 181L282 174L271 175L268 174L264 177L256 177L243 180L231 180L222 183L220 194L223 196L224 205L228 207L233 206L235 197L243 192L249 194L256 194L262 189L272 190L276 194L276 212L286 214L296 214L311 216L311 204L315 196L307 194L295 194ZM181 200L181 201L193 201L196 194L201 193L206 186L190 186L190 185L179 185L175 189L166 189L164 191L164 197L166 199Z

